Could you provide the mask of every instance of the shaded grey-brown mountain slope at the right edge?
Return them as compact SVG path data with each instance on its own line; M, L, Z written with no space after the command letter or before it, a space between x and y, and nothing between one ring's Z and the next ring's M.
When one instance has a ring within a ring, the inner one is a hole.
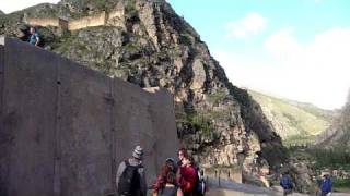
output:
M316 144L320 146L350 146L350 94L347 103L335 118L331 126L316 137Z

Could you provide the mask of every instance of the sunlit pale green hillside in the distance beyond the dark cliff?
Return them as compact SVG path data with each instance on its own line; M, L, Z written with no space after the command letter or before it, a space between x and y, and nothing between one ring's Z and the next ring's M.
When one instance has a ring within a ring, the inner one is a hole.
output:
M304 143L324 132L331 123L334 112L314 105L298 102L249 90L260 103L276 132L287 143Z

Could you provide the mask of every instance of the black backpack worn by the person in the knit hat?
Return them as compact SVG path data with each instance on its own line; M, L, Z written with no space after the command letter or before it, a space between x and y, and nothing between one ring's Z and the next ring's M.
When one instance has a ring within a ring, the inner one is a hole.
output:
M125 196L132 196L140 187L140 174L139 168L142 166L131 166L129 161L125 161L125 170L118 182L118 194Z

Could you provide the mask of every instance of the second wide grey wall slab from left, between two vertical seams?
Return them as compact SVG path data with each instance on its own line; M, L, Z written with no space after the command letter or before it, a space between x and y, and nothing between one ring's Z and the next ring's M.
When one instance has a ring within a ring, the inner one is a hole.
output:
M112 187L109 77L59 61L61 195L95 196Z

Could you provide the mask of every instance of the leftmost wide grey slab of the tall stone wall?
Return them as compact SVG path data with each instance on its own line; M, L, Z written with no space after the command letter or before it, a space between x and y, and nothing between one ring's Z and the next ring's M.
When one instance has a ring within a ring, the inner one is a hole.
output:
M1 195L52 194L58 57L4 40Z

